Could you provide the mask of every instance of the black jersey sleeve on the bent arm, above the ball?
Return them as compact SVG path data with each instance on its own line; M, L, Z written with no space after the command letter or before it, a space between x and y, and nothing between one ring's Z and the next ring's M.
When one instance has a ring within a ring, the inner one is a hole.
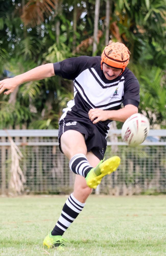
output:
M125 79L124 96L123 96L122 102L124 106L128 104L134 105L137 108L139 106L139 102L140 102L139 82L132 72Z

